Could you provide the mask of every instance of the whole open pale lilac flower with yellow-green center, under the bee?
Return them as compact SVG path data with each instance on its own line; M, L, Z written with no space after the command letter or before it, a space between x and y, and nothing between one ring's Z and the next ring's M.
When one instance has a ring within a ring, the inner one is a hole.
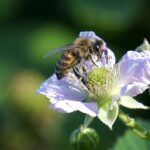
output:
M89 35L95 36L93 32ZM50 107L59 112L81 111L97 116L110 128L118 116L119 104L132 109L148 109L133 97L149 88L150 52L128 51L116 65L113 52L108 48L107 52L108 62L95 61L97 68L92 61L81 63L87 70L86 75L80 65L77 66L87 84L73 72L61 80L54 74L42 83L37 92L48 97Z

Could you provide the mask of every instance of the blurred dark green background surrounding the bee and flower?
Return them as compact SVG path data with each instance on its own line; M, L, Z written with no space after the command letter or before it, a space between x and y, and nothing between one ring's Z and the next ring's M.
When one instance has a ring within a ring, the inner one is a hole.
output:
M69 136L84 114L57 113L35 90L54 72L58 59L43 56L85 30L101 36L119 60L143 38L150 40L149 0L0 0L0 150L71 149ZM150 106L148 91L137 99ZM149 123L149 111L125 111ZM150 146L119 121L113 131L97 119L92 126L100 136L98 149Z

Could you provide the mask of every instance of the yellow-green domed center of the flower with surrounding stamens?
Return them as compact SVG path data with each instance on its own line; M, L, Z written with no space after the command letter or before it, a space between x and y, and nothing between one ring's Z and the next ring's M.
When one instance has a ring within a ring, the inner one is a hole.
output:
M95 68L88 73L87 82L90 96L93 99L110 99L114 83L114 75L111 70Z

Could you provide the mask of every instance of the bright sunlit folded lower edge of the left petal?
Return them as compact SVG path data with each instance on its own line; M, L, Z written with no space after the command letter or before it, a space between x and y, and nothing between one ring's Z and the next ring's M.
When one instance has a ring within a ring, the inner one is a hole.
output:
M98 108L95 102L83 103L79 101L57 101L56 103L51 103L50 108L55 109L58 112L71 113L74 111L81 111L92 117L95 117L98 113Z

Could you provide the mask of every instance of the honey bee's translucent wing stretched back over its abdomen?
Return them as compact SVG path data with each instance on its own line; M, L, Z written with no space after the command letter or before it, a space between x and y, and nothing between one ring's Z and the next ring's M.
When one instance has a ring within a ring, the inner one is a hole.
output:
M68 45L68 46L64 46L64 47L61 47L61 48L56 48L56 49L51 50L47 54L45 54L44 58L47 58L47 57L56 55L57 53L60 53L60 52L66 51L66 50L71 50L71 49L74 49L74 48L77 48L77 47L78 47L77 45Z

